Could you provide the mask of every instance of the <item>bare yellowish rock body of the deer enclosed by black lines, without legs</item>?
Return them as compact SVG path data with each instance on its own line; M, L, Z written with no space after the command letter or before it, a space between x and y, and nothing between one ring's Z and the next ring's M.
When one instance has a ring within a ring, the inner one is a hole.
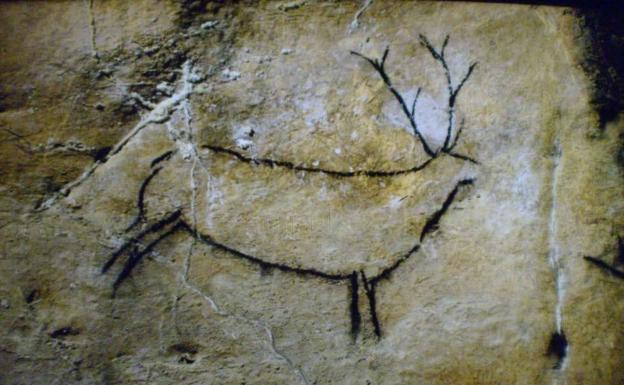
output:
M188 173L174 166L163 180L176 185L159 199L176 201L201 233L264 261L372 276L419 243L465 165L441 157L415 173L342 178L215 157L195 173L194 198Z

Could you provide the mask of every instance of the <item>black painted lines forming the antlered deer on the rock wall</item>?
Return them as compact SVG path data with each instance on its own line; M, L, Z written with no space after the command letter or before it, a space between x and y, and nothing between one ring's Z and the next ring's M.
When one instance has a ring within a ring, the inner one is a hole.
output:
M418 172L423 170L425 167L427 167L434 159L436 159L437 157L439 157L441 154L447 154L451 157L455 157L464 161L469 161L471 163L475 163L478 164L478 162L476 160L474 160L473 158L466 156L466 155L462 155L462 154L458 154L453 152L454 147L457 145L457 142L459 140L460 134L464 128L464 122L461 122L461 125L459 126L459 128L456 130L455 132L455 136L453 138L453 122L454 122L454 108L455 108L455 103L457 100L457 96L459 95L460 90L462 89L462 87L464 86L464 84L466 83L466 81L468 80L468 78L470 77L470 75L472 74L476 63L473 63L470 65L470 67L468 68L467 73L464 75L464 77L462 78L462 80L459 82L459 84L456 87L453 87L452 84L452 78L451 78L451 73L450 70L448 68L448 65L446 63L446 59L444 56L444 51L446 49L446 46L448 44L449 41L449 36L447 35L444 43L442 44L442 48L440 49L440 51L437 51L427 40L427 38L424 35L420 35L420 40L421 40L421 44L423 46L425 46L429 52L431 53L431 55L433 56L433 58L438 61L444 71L445 71L445 76L447 79L447 88L448 88L448 93L449 93L449 102L448 102L448 114L449 114L449 118L448 118L448 126L447 126L447 135L445 137L445 141L443 146L438 149L437 151L433 151L431 149L431 147L429 146L429 144L426 142L426 140L424 139L424 137L421 135L420 131L418 130L418 126L416 123L416 118L415 118L415 108L416 108L416 103L418 101L418 97L421 93L421 88L418 88L417 94L411 104L411 110L407 107L407 104L405 103L405 99L403 98L403 96L394 88L394 86L392 85L392 82L390 80L390 77L387 75L387 73L385 72L385 62L386 59L388 57L388 53L389 53L389 48L386 48L386 50L384 51L383 57L381 58L381 60L377 60L377 59L371 59L368 58L366 56L363 56L362 54L359 54L357 52L353 52L351 51L351 53L353 55L359 56L363 59L365 59L367 62L369 62L379 73L379 75L381 76L382 80L384 81L384 83L386 84L386 86L388 87L388 89L390 90L390 92L395 96L395 98L397 99L397 101L399 102L399 104L401 105L401 108L403 110L403 112L406 114L407 118L410 121L410 124L412 126L412 130L414 133L414 136L417 137L418 140L420 140L421 144L423 145L423 149L425 150L425 152L427 153L427 155L429 156L429 159L427 159L425 162L423 162L420 165L411 167L411 168L407 168L407 169L398 169L398 170L356 170L356 171L340 171L340 170L329 170L329 169L323 169L323 168L316 168L316 167L307 167L304 165L298 165L295 164L293 162L290 161L283 161L283 160L274 160L274 159L270 159L270 158L252 158L252 157L248 157L246 155L244 155L243 153L240 153L236 150L232 150L229 148L225 148L225 147L220 147L220 146L215 146L215 145L204 145L202 146L202 148L208 149L210 151L213 151L215 153L218 154L226 154L226 155L230 155L232 157L234 157L235 159L237 159L238 161L244 162L244 163L248 163L248 164L255 164L255 165L263 165L263 166L268 166L271 168L284 168L284 169L289 169L292 171L305 171L305 172L317 172L317 173L324 173L330 176L335 176L335 177L356 177L356 176L365 176L365 177L392 177L392 176L397 176L397 175L402 175L402 174L408 174L408 173L414 173L414 172ZM130 223L130 225L126 228L126 232L132 230L133 228L135 228L137 225L139 224L143 224L146 219L145 219L145 194L147 191L147 188L149 186L149 184L151 183L151 181L158 175L158 173L164 168L164 166L159 166L160 163L168 161L173 155L174 155L175 151L167 151L165 153L163 153L162 155L156 157L150 164L150 168L151 168L151 172L150 174L143 180L140 189L139 189L139 193L138 193L138 197L137 197L137 208L138 208L138 213L136 215L136 217L134 218L134 220ZM158 166L158 167L157 167ZM420 237L419 237L419 241L420 243L422 243L425 239L425 237L434 232L438 226L439 226L439 222L442 219L443 215L448 211L448 209L450 208L451 204L453 203L453 201L456 198L457 193L459 192L459 189L462 186L468 186L468 185L472 185L474 182L473 179L463 179L460 180L459 182L457 182L457 184L455 185L455 187L453 188L453 190L451 190L451 192L448 194L447 198L444 200L442 206L435 211L425 222L425 225L421 231ZM384 281L384 280L389 280L392 273L399 267L401 266L404 262L406 262L413 254L415 254L419 249L420 249L420 243L415 244L410 250L408 250L407 252L403 253L402 255L400 255L397 260L389 267L387 267L386 269L384 269L381 273L379 273L378 275L374 276L374 277L367 277L366 274L364 273L363 270L358 271L353 271L349 274L336 274L336 273L328 273L328 272L323 272L323 271L319 271L319 270L315 270L315 269L308 269L308 268L303 268L303 267L299 267L299 266L289 266L287 264L280 264L280 263L275 263L275 262L269 262L266 261L265 259L261 258L261 257L257 257L257 256L253 256L250 254L246 254L240 250L237 250L231 246L222 244L220 242L217 242L216 240L214 240L210 235L206 235L206 234L202 234L200 233L197 228L194 228L192 225L190 225L189 223L187 223L183 217L182 217L182 210L178 209L166 216L164 216L162 219L156 221L155 223L152 223L151 225L149 225L146 229L140 231L137 235L135 235L134 237L128 239L124 244L122 244L115 252L113 252L111 254L111 256L109 257L109 259L106 261L106 263L103 265L102 267L102 273L106 273L114 264L115 262L119 259L120 256L126 254L127 255L127 260L124 263L121 271L118 273L114 283L113 283L113 296L116 295L117 289L119 288L119 286L127 279L130 277L133 269L139 264L139 262L143 259L143 257L147 254L149 254L150 252L152 252L154 250L154 248L164 239L168 238L169 236L178 233L178 232L186 232L189 235L191 235L193 238L195 238L196 240L214 247L216 249L219 249L221 251L224 251L228 254L233 255L234 257L246 260L250 263L256 264L260 267L260 270L262 273L264 273L265 271L271 271L271 270L279 270L282 272L289 272L289 273L295 273L298 275L302 275L302 276L310 276L310 277L316 277L316 278L322 278L325 280L329 280L331 282L341 282L341 281L348 281L349 282L349 293L350 293L350 305L349 305L349 313L350 313L350 319L351 319L351 335L353 337L353 339L357 339L358 334L360 332L360 328L361 328L361 322L362 322L362 316L360 313L360 308L359 308L359 298L360 298L360 285L359 285L359 280L361 279L362 281L362 286L364 288L364 293L366 295L366 298L368 299L369 302L369 311L370 311L370 319L371 319L371 323L373 324L373 328L374 328L374 333L377 336L377 338L381 338L382 332L381 332L381 324L379 321L379 316L377 313L377 299L376 299L376 292L377 292L377 287L378 285ZM142 240L143 238L145 238L148 235L151 234L159 234L154 240L152 240L150 243L148 243L146 246L143 246L142 244ZM358 274L359 273L359 274Z

